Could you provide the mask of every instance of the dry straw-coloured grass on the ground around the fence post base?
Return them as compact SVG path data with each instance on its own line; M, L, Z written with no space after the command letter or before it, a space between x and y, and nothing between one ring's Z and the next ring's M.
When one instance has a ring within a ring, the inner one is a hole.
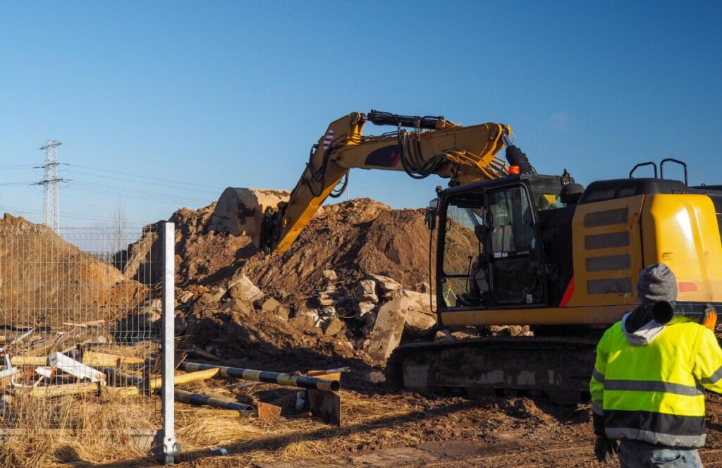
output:
M234 389L236 381L186 384L183 389L215 394L239 401L269 401L273 395L284 411L295 401L294 389L261 384ZM256 462L308 459L329 453L409 446L421 440L413 424L417 408L402 397L376 397L341 391L343 427L318 422L310 415L295 415L259 421L230 417L212 409L177 403L176 436L183 446L182 466L251 466ZM152 397L160 404L158 397ZM0 446L1 467L146 466L147 454L129 443L122 428L160 428L160 411L149 397L19 397L10 407L17 424L28 430L13 433ZM61 428L45 433L39 428ZM230 456L214 456L212 446L223 446ZM118 462L123 462L118 464ZM125 463L127 462L127 463Z

